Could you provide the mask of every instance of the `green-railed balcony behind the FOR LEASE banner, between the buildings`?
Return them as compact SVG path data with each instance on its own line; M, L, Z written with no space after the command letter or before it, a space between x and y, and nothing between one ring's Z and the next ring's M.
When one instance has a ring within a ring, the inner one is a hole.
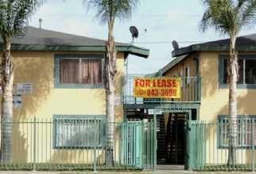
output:
M180 81L179 98L145 98L134 97L134 78L144 78L143 75L128 75L122 78L123 104L200 104L202 79L200 77L183 77ZM149 77L146 77L149 78ZM153 77L157 78L157 77ZM159 77L160 78L160 77ZM162 77L175 78L175 77Z

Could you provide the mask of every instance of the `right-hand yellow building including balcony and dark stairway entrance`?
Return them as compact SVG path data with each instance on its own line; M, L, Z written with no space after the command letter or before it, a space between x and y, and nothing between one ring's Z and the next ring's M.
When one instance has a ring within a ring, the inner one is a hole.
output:
M208 154L218 161L217 156L220 152L216 152L216 149L226 150L224 153L227 154L229 88L226 67L230 40L216 40L188 47L178 47L174 42L173 46L173 61L157 73L148 74L145 79L147 77L180 78L180 98L133 98L133 90L130 88L124 97L126 118L152 119L153 111L157 109L157 163L180 164L185 165L185 168L188 168L188 160L197 161L198 153L195 149L197 148L196 143L188 141L191 127L187 124L188 128L185 128L186 121L192 121L190 123L193 123L193 120L197 123L200 121L226 123L226 127L219 126L217 128L215 126L206 131L211 135L206 142L206 147L213 148L208 149L210 153L205 153L203 146L202 148L200 146L201 149L199 149L200 152L204 152L204 164L209 163L209 161L205 161L205 159L210 159L210 157L205 158ZM256 98L256 34L239 36L236 40L236 51L239 52L240 66L240 78L237 85L237 114L239 123L244 123L247 122L246 120L256 117L256 108L254 107ZM133 79L133 77L128 79ZM132 92L130 93L130 91ZM195 138L195 141L203 141L205 137L199 138L195 134L192 138ZM247 136L243 139L242 142L249 140ZM202 145L204 143L202 142ZM191 146L196 146L191 149L193 153L196 153L193 157L191 150L189 152ZM215 152L214 155L212 152ZM240 155L240 157L242 156ZM225 160L222 162L227 163ZM214 162L210 164L214 164Z

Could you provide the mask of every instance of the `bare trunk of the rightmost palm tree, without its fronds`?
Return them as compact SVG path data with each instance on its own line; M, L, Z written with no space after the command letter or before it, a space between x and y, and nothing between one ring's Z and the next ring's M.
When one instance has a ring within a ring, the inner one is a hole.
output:
M236 148L237 148L237 99L236 99L236 82L239 78L238 55L235 52L235 40L231 37L231 54L228 58L228 75L229 75L229 155L228 165L236 165Z

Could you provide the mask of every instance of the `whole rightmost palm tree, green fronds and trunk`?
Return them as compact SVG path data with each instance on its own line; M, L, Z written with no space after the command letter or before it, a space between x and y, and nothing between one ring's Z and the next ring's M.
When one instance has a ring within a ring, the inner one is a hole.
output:
M237 99L236 82L239 78L238 53L235 51L235 40L244 27L255 24L255 0L201 0L206 7L200 21L200 30L205 32L209 27L230 36L230 53L227 58L227 74L229 82L229 120L230 138L228 165L236 164L237 134Z

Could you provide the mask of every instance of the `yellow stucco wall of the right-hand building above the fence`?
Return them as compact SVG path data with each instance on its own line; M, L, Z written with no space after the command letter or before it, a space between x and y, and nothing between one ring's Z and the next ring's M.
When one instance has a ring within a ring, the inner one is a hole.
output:
M228 53L223 53L228 54ZM244 55L244 53L239 53ZM228 115L229 89L219 89L219 53L202 52L200 54L200 76L203 79L200 120L216 121L217 115ZM211 70L209 70L211 68ZM237 114L255 115L254 89L237 89Z

